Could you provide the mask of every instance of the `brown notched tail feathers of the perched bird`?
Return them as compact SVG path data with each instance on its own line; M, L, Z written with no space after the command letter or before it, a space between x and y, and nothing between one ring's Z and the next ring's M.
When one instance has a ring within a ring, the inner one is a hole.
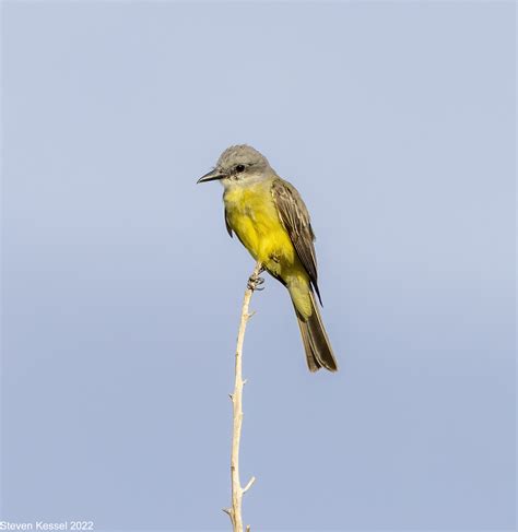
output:
M310 291L309 295L311 300L311 315L309 318L304 318L295 304L293 305L297 315L298 327L301 328L304 350L306 351L307 366L309 371L318 371L322 367L329 369L329 371L337 371L337 359L315 302L315 294Z

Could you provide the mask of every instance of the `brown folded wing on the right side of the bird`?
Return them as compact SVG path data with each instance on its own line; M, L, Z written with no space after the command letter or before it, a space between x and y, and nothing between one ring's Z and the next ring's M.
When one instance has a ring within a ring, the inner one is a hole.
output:
M281 178L273 180L271 190L279 217L290 235L298 259L309 275L321 304L322 300L317 284L317 257L313 245L315 234L313 233L306 205L296 188Z

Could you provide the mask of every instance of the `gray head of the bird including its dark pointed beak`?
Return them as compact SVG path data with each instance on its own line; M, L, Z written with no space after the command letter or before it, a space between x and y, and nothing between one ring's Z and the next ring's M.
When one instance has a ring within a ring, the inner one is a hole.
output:
M198 182L221 180L228 187L240 182L254 182L273 174L267 157L251 146L240 144L227 147L217 159L213 170L205 174Z

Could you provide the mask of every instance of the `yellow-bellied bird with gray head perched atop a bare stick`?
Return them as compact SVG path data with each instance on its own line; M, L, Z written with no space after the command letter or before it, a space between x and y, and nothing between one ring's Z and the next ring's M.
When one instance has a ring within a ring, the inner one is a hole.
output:
M228 235L237 235L261 271L287 288L308 369L337 371L337 358L315 297L321 305L315 234L297 189L279 177L267 157L247 144L227 147L215 167L197 182L214 180L224 188Z

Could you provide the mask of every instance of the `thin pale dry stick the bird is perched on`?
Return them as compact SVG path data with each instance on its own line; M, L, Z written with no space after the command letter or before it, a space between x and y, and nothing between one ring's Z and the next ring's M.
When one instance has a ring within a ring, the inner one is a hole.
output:
M254 270L254 273L248 280L248 285L245 291L245 297L243 298L242 320L239 323L239 332L237 333L237 346L236 346L236 366L235 366L235 381L234 393L231 393L234 423L232 431L232 453L231 453L231 480L232 480L232 508L225 508L223 511L228 513L234 532L243 532L243 517L242 517L242 500L243 495L251 487L256 477L252 476L245 487L242 487L239 480L239 441L242 438L242 425L243 425L243 380L242 375L242 358L243 358L243 343L245 341L246 324L251 314L248 314L248 306L250 305L251 295L257 288L259 273L261 271L261 264L258 262ZM247 532L250 530L248 525Z

